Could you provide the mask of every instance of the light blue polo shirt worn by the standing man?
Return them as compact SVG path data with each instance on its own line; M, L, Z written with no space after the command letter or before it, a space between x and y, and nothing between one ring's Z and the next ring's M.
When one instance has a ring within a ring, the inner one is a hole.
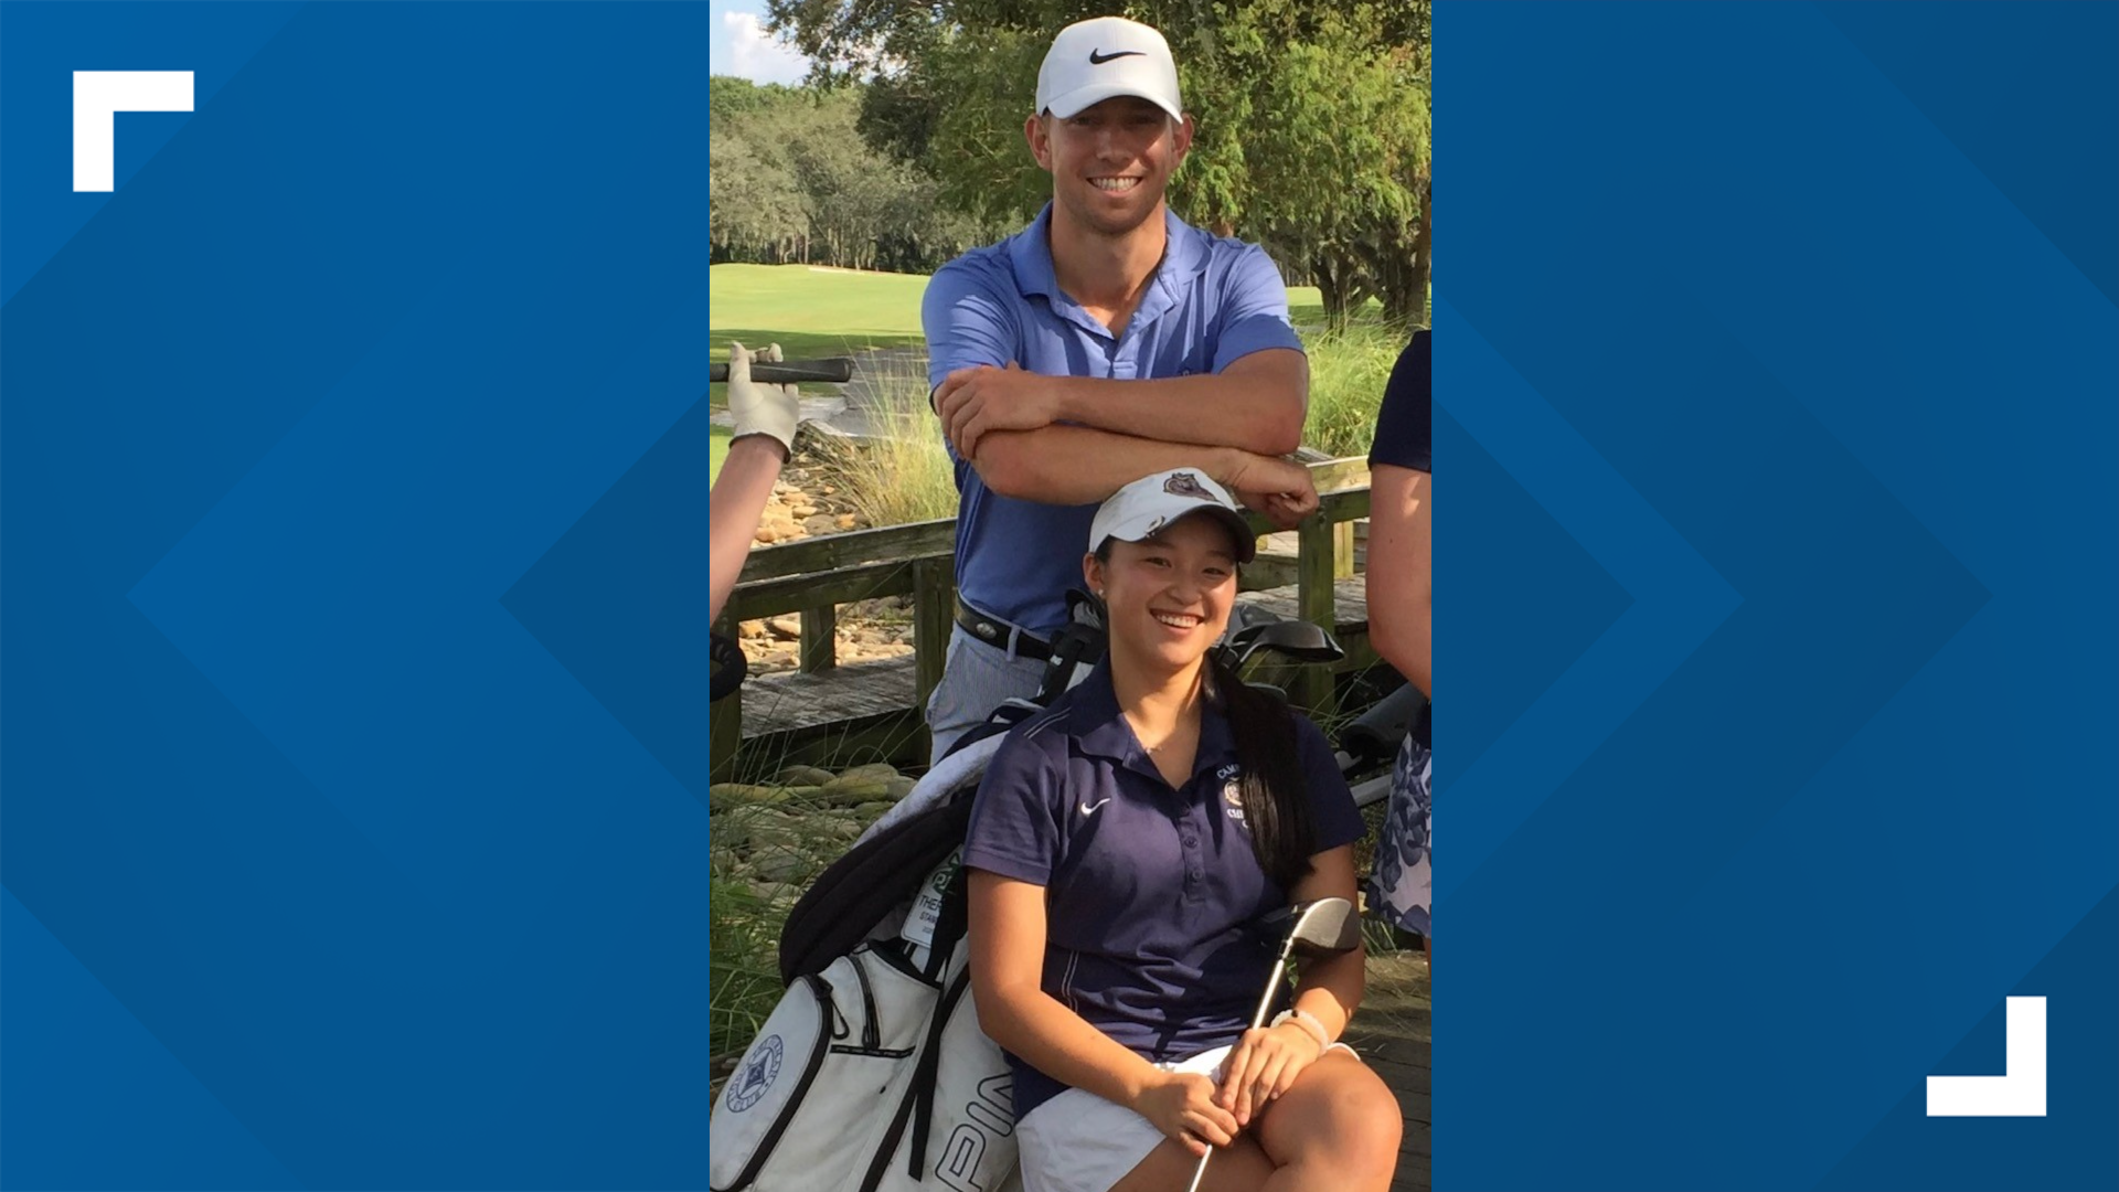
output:
M1163 261L1117 337L1053 280L1051 204L1017 235L943 265L920 305L928 390L956 369L1009 361L1045 375L1161 380L1218 373L1263 348L1301 352L1288 291L1263 248L1174 214L1165 223ZM998 496L960 458L956 488L958 594L1038 634L1064 626L1096 505Z

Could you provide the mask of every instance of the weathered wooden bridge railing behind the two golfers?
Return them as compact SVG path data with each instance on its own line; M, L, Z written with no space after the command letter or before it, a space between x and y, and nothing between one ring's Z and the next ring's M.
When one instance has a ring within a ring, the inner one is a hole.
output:
M1310 477L1320 507L1295 530L1297 609L1305 621L1331 628L1333 581L1354 575L1354 522L1369 515L1369 464L1363 458L1320 460L1310 464ZM1261 534L1271 532L1257 513L1250 524ZM1244 577L1246 590L1280 583L1286 579L1271 566ZM913 598L913 691L924 706L941 681L956 624L954 518L752 549L716 630L735 636L737 621L797 613L801 670L818 674L837 666L839 604L879 596ZM737 738L735 732L725 736L720 725L714 736Z

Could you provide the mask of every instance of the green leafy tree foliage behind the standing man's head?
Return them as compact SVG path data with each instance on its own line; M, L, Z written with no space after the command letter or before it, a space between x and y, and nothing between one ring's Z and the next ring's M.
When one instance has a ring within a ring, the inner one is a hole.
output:
M1074 0L771 0L816 83L860 83L858 129L951 208L1021 223L1051 195L1023 117ZM1265 244L1333 318L1369 295L1424 320L1430 195L1428 0L1142 0L1197 121L1172 201Z

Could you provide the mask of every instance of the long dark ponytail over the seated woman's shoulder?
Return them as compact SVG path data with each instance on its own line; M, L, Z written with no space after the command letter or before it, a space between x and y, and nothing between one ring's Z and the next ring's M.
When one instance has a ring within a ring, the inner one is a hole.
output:
M1096 560L1110 562L1110 543L1096 547ZM1104 615L1110 626L1110 615ZM1235 738L1235 759L1244 768L1237 778L1244 800L1244 825L1250 827L1250 851L1259 867L1282 891L1310 876L1316 865L1316 825L1310 821L1310 783L1303 778L1295 713L1288 706L1237 677L1218 651L1206 655L1206 694L1221 700Z

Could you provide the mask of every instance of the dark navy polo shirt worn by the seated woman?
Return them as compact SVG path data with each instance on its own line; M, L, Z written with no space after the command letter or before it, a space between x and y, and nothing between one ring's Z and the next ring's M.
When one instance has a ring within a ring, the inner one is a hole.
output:
M1316 848L1365 831L1324 734L1295 717ZM1229 721L1210 706L1193 776L1172 791L1119 713L1108 666L1017 725L979 785L964 863L1045 887L1043 988L1136 1054L1233 1044L1265 993L1288 904L1250 848ZM1009 1056L1015 1116L1066 1086Z

